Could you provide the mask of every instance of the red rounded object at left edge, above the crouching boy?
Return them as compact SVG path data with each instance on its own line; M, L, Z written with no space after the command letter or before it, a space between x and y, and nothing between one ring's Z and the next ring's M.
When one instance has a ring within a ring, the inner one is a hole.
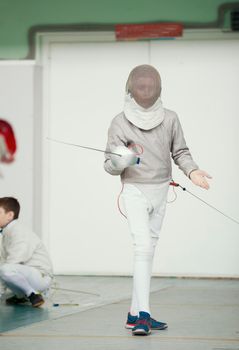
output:
M2 162L8 163L14 160L14 154L17 150L16 139L12 126L3 119L0 119L0 135L3 136L7 154L1 159Z

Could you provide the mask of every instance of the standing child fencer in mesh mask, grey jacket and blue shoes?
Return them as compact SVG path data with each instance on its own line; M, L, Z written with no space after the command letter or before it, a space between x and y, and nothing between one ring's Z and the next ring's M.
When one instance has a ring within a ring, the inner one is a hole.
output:
M162 226L169 183L171 158L191 181L209 188L205 171L198 168L186 145L175 112L165 109L160 98L161 78L150 65L135 67L126 83L124 110L108 131L105 170L120 175L122 198L134 247L133 292L126 328L134 335L167 328L151 317L150 279L155 247ZM138 164L135 149L143 151Z

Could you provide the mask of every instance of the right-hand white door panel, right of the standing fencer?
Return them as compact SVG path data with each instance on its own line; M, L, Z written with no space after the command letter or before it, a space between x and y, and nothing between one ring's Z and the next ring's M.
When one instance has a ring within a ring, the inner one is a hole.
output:
M165 106L179 114L195 161L212 176L211 189L175 180L218 209L239 218L238 41L152 43L151 63L162 74ZM239 274L239 225L187 193L168 205L155 265L175 275Z

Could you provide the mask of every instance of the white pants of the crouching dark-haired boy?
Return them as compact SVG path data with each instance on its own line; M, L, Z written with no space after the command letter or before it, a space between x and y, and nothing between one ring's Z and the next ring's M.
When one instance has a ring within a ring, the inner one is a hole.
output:
M36 268L22 264L2 264L0 279L19 298L46 291L52 281L50 276L43 276Z

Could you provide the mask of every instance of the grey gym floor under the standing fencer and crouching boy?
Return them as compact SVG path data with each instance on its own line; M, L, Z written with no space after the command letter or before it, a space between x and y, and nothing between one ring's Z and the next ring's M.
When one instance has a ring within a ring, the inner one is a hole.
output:
M124 328L131 283L58 276L41 309L2 301L0 349L239 350L239 280L153 278L152 316L169 328L147 337Z

